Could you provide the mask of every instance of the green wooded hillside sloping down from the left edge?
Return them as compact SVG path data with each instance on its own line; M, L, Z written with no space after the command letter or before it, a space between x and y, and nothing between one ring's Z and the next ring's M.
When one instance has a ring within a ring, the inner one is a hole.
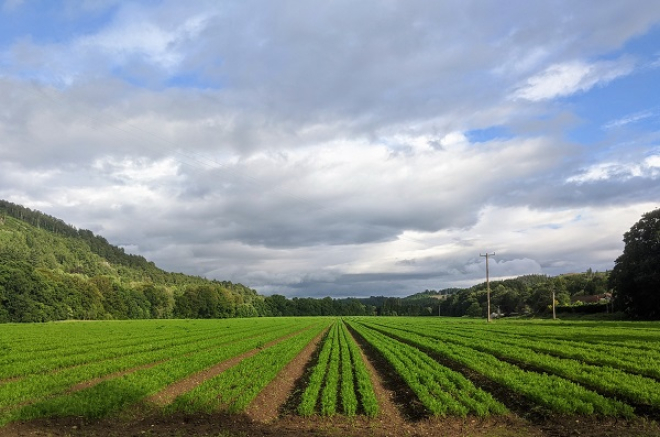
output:
M0 200L0 322L267 315L228 281L166 272L89 230Z

